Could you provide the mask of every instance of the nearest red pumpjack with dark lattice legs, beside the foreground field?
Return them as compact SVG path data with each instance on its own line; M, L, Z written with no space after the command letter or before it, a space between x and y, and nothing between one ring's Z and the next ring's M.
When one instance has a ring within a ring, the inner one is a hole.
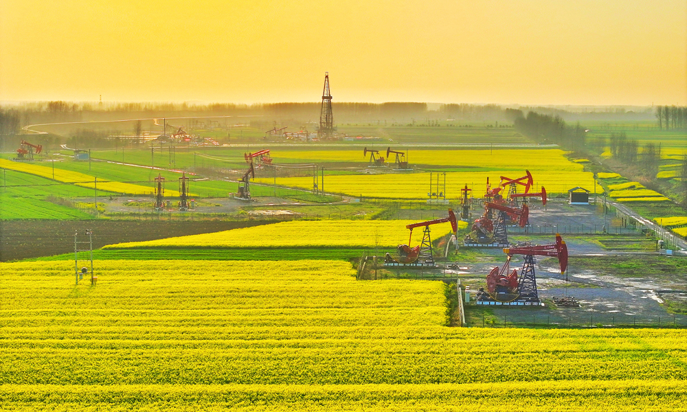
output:
M480 299L495 301L528 301L539 302L537 291L537 277L534 274L534 256L551 256L558 258L561 274L567 268L567 245L560 234L556 234L556 243L541 246L522 246L504 249L508 255L502 268L495 267L486 277L489 295L482 295ZM513 255L523 255L524 262L518 279L517 271L510 271L510 260Z

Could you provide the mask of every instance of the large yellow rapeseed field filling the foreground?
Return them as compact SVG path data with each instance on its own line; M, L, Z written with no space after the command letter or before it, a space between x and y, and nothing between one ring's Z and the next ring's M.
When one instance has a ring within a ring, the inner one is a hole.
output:
M451 328L442 282L340 261L73 264L0 263L2 409L685 409L679 328Z

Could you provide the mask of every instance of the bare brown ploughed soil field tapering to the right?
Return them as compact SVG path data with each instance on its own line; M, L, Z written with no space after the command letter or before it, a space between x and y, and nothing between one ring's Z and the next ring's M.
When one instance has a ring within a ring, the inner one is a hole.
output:
M269 220L170 222L127 220L0 221L0 261L74 252L74 232L93 230L93 249L106 244L196 235L270 223Z

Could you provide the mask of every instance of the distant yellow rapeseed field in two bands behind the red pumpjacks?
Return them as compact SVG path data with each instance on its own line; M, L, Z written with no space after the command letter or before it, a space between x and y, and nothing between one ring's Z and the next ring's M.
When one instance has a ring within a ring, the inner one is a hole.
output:
M381 148L379 148L381 150ZM369 155L368 155L369 156ZM300 159L300 161L366 161L362 150L317 150L280 152L275 159ZM390 159L393 161L394 159ZM447 197L460 198L460 189L468 185L473 196L482 197L486 179L497 185L501 176L515 179L530 170L534 178L532 190L546 188L550 196L567 196L576 186L594 192L594 175L584 172L584 165L565 157L559 149L499 149L499 150L409 150L410 165L442 165L446 174ZM456 170L458 169L458 170ZM354 174L325 176L326 192L376 198L427 198L429 173L394 173L391 168L379 169L384 174ZM325 172L326 174L326 172ZM256 179L273 183L271 178ZM278 178L277 183L288 187L311 188L311 177ZM443 180L442 180L443 185ZM597 193L602 193L600 185Z

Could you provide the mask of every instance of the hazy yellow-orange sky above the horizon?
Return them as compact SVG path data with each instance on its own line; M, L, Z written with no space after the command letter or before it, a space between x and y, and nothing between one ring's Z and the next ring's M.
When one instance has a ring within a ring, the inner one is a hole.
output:
M0 0L0 100L687 104L685 0Z

